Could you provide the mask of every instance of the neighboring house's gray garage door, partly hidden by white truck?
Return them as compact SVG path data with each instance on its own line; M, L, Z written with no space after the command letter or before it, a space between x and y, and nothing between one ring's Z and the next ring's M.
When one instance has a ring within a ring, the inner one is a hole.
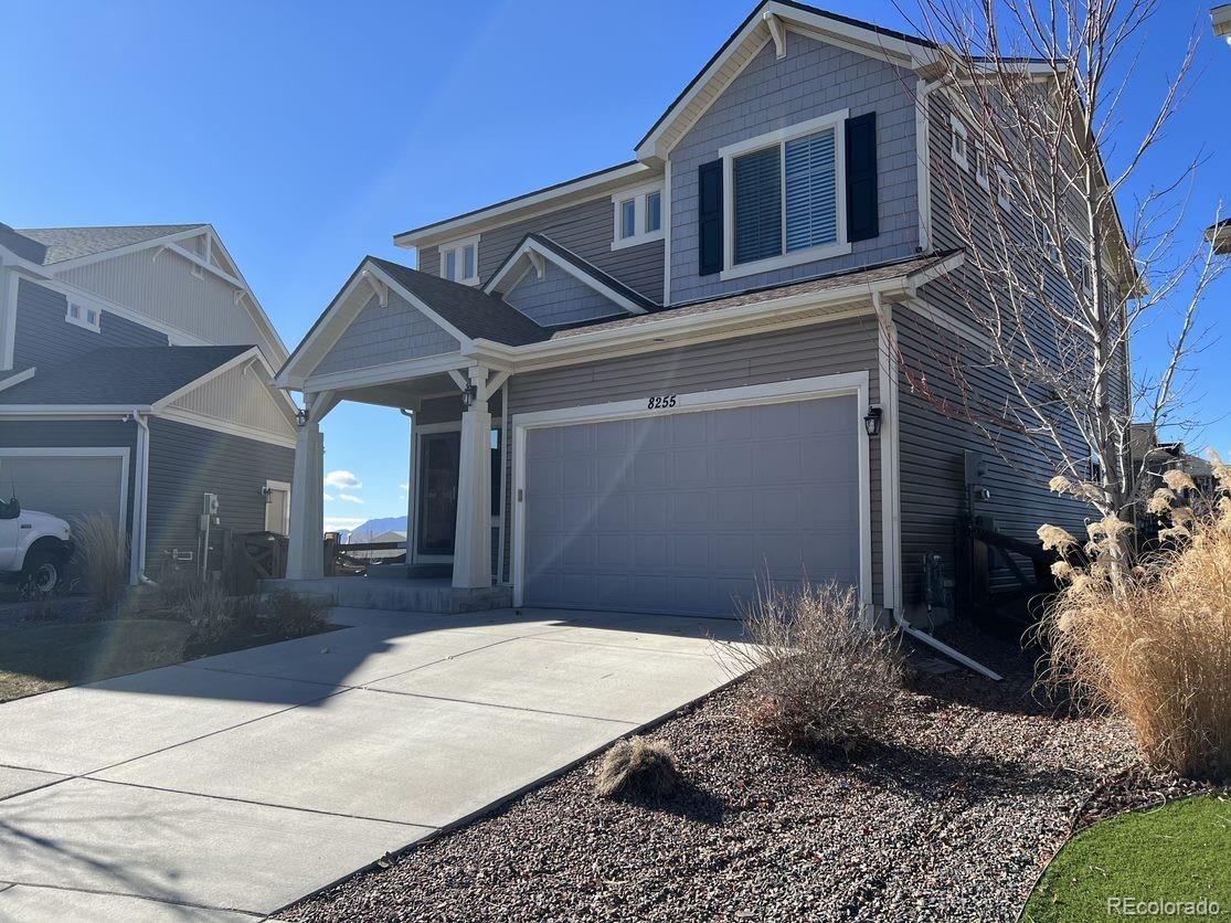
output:
M119 452L119 450L117 450ZM122 523L127 459L119 454L60 455L0 449L0 493L16 493L25 509L71 522L102 513ZM12 487L10 487L10 484Z

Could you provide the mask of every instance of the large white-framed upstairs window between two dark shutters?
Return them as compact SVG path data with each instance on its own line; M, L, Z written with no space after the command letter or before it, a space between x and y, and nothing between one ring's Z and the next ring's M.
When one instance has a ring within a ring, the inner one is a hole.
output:
M723 278L851 252L846 119L843 110L719 151L731 190Z

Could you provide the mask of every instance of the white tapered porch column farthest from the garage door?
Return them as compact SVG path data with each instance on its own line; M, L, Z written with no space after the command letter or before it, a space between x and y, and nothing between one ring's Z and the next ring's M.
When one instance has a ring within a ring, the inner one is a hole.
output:
M332 409L330 394L304 395L304 421L295 433L295 466L291 481L291 537L287 578L325 575L325 439L320 421Z

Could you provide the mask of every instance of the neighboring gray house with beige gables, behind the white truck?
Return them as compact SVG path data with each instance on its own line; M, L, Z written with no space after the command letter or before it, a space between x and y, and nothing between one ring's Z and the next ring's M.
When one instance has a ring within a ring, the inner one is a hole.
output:
M133 581L199 562L206 493L222 528L286 533L286 357L208 224L0 225L0 493L113 518Z

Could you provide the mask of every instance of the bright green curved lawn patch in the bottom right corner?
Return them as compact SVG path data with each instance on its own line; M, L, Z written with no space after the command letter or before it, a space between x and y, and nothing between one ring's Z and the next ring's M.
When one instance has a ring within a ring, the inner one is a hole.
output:
M1097 823L1077 834L1053 860L1030 896L1023 919L1077 923L1129 916L1110 898L1217 903L1231 911L1231 801L1205 795L1155 811L1137 811ZM1211 909L1165 913L1133 908L1144 919L1216 916Z

